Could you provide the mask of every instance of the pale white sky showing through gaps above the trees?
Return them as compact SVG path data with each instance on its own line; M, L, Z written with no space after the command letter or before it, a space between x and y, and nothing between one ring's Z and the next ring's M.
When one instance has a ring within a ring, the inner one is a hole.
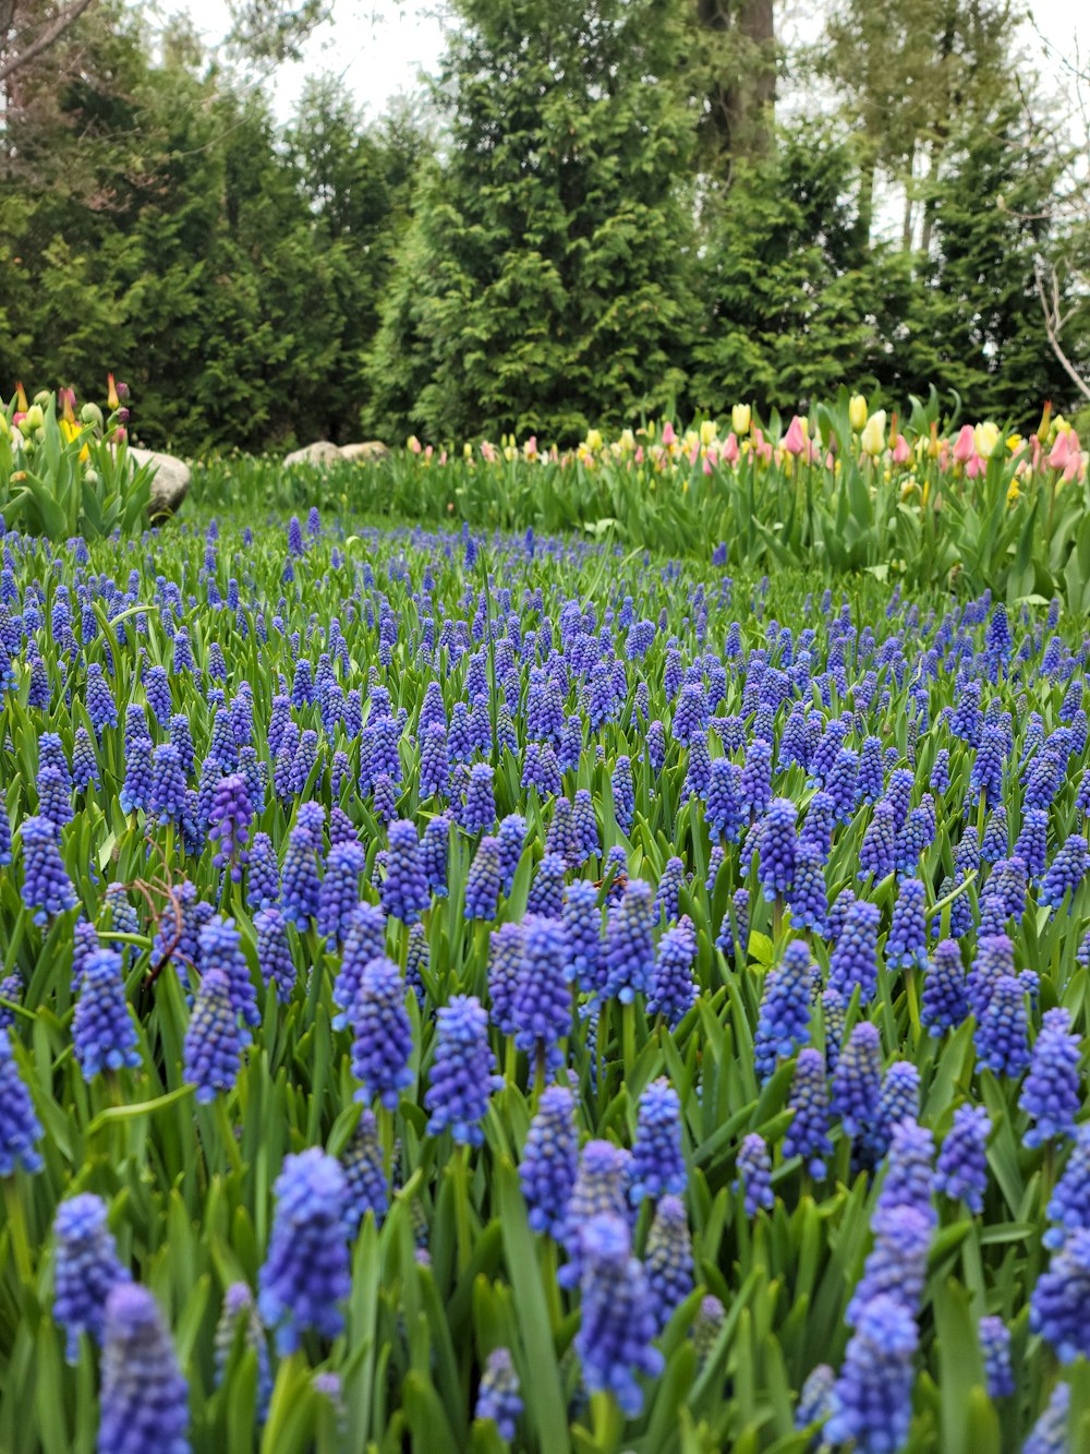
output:
M1081 54L1083 68L1090 60L1090 6L1086 0L1028 0L1029 10L1045 44L1030 26L1023 29L1023 44L1032 54L1045 81L1067 89L1062 57ZM227 29L224 0L158 0L163 13L180 12L193 22L208 47L217 45ZM818 10L811 0L801 0L796 29L808 33L807 15ZM421 71L433 71L443 51L443 16L451 12L443 0L334 0L334 23L314 35L299 64L283 65L275 77L275 108L286 119L302 90L307 76L323 71L342 76L363 108L366 119L382 115L388 102L413 93Z

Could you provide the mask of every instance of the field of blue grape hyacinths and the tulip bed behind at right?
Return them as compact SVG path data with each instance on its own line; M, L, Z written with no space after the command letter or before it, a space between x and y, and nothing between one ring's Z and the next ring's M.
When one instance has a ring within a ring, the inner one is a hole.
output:
M0 1448L1090 1448L1084 462L847 409L0 539Z

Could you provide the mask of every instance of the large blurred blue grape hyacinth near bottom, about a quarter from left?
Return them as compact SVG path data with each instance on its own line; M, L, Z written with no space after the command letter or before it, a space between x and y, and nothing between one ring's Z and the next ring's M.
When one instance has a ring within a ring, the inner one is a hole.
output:
M273 1191L276 1214L257 1280L257 1309L265 1326L276 1330L276 1351L286 1357L308 1329L321 1338L344 1329L339 1304L352 1290L347 1184L339 1162L311 1147L285 1157Z

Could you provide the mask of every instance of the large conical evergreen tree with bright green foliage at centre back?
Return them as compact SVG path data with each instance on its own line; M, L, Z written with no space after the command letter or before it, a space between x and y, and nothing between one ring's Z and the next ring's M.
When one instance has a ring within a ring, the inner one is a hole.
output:
M661 407L692 316L690 121L669 0L467 0L369 365L379 432L577 438Z

